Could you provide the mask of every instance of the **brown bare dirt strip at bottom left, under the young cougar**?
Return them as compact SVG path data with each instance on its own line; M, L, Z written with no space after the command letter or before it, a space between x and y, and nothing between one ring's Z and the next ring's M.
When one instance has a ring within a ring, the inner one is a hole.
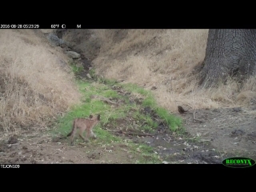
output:
M0 163L134 163L126 144L103 145L91 141L70 146L70 140L43 132L26 132L0 143Z

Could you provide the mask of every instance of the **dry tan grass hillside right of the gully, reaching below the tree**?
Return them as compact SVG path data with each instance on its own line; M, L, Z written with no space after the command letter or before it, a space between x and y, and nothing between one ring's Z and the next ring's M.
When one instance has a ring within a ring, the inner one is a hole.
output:
M229 81L217 89L198 89L194 66L205 57L208 30L94 30L102 47L94 59L97 73L153 90L158 104L171 111L247 105L255 98L255 78L239 89ZM115 39L115 40L114 40Z

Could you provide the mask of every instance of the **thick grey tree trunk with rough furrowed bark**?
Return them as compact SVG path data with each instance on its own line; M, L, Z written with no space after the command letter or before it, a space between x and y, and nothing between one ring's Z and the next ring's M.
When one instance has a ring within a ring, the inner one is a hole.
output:
M228 77L242 82L256 74L256 30L209 30L201 86L216 86Z

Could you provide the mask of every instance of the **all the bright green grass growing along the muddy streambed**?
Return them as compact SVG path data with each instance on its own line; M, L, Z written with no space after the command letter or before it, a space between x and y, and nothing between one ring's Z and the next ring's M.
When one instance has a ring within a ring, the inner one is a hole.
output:
M81 68L70 63L75 74L81 72ZM146 132L152 132L158 127L158 122L155 122L149 114L143 114L141 112L143 107L150 106L151 109L155 110L162 120L166 122L170 130L178 131L182 130L182 120L181 118L174 117L169 114L167 110L162 107L158 107L153 95L150 91L144 90L134 84L119 84L112 79L98 78L94 70L90 70L90 76L92 78L97 78L98 82L77 80L78 88L82 93L82 104L79 106L72 106L70 111L62 118L58 119L58 129L51 131L53 134L61 134L66 136L70 133L72 129L72 124L74 118L88 118L90 114L101 114L101 121L96 127L94 127L94 133L97 135L98 140L96 143L102 142L124 142L122 138L118 138L111 134L111 132L105 130L106 124L112 125L113 129L116 129L118 119L122 118L134 118L138 123L137 127L141 130L146 130ZM141 94L144 96L142 105L137 105L135 103L130 104L129 96L122 96L117 93L117 91L112 90L110 86L122 86L123 89ZM122 106L110 106L106 102L102 102L98 98L90 98L91 95L99 95L105 98L118 98L126 101L126 104ZM126 119L127 120L127 119ZM133 127L133 122L131 121L126 128ZM78 137L81 140L81 138ZM146 144L135 144L129 140L130 150L134 154L139 154L141 157L137 163L161 163L158 154L154 153L154 148L147 146Z

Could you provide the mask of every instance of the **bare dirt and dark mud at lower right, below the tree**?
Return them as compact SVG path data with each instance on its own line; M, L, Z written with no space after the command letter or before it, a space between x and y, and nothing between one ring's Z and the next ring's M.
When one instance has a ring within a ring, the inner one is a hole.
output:
M186 134L176 136L162 126L146 142L173 163L221 163L223 158L245 156L256 159L256 111L243 108L206 109L176 114ZM202 122L193 121L197 118ZM194 140L195 139L195 140Z

